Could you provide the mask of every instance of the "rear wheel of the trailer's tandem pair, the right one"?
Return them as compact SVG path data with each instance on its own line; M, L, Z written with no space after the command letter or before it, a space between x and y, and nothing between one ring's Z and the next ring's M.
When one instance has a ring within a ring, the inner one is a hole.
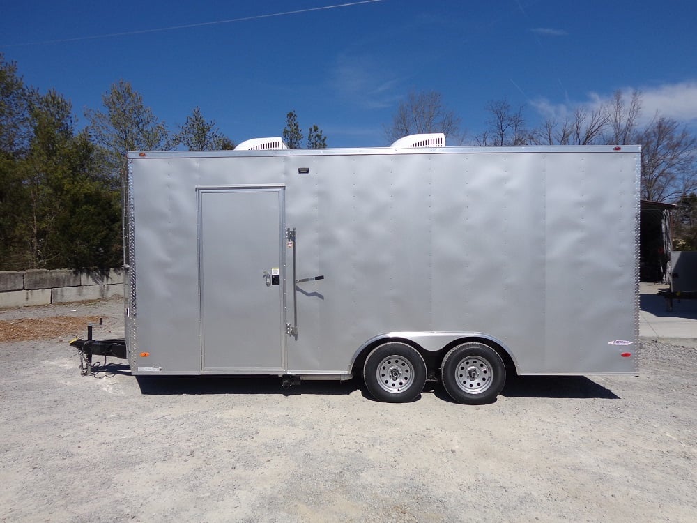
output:
M506 367L498 352L488 345L464 343L443 358L441 381L445 391L458 403L491 403L505 384Z

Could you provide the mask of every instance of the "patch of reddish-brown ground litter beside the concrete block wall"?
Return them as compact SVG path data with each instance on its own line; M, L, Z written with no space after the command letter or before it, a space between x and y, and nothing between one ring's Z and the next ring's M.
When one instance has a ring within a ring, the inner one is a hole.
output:
M99 316L0 319L0 342L24 342L71 336L76 332L84 331L87 324L98 324L99 319Z

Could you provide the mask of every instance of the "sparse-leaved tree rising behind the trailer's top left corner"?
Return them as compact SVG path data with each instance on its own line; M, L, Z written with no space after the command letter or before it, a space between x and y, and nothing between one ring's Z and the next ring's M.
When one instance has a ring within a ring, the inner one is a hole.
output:
M143 103L143 97L121 79L102 95L104 110L87 109L88 130L102 153L107 172L118 180L125 176L128 151L171 149L169 131Z

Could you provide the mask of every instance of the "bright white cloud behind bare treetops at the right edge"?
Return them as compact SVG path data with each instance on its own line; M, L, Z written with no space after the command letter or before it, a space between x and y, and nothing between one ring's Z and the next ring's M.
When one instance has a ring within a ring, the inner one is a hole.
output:
M640 123L648 123L657 115L684 123L697 123L697 80L651 87L628 86L620 91L625 100L629 100L634 91L641 93ZM546 98L538 98L533 100L532 105L544 118L562 120L579 106L595 109L608 103L612 96L613 93L589 93L588 100L578 103L554 103Z

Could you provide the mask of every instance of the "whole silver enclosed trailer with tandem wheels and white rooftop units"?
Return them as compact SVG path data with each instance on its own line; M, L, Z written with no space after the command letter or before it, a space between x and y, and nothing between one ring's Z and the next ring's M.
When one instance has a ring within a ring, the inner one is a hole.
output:
M418 138L130 153L132 373L359 374L393 402L440 379L464 403L506 372L636 374L639 147Z

